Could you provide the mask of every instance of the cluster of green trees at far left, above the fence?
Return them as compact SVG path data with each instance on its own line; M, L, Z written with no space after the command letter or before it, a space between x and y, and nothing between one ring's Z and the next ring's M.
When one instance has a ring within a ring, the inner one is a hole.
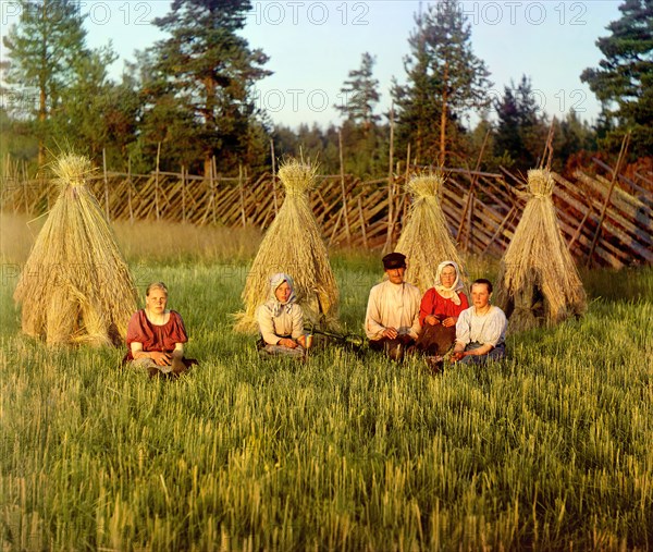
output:
M118 163L134 139L137 106L124 86L108 77L116 53L111 45L86 47L86 16L78 2L32 1L21 8L20 23L5 37L9 95L20 100L10 102L12 155L36 157L28 143L17 139L26 133L38 142L41 165L46 150L65 148L84 152L97 164L104 149L109 162Z

